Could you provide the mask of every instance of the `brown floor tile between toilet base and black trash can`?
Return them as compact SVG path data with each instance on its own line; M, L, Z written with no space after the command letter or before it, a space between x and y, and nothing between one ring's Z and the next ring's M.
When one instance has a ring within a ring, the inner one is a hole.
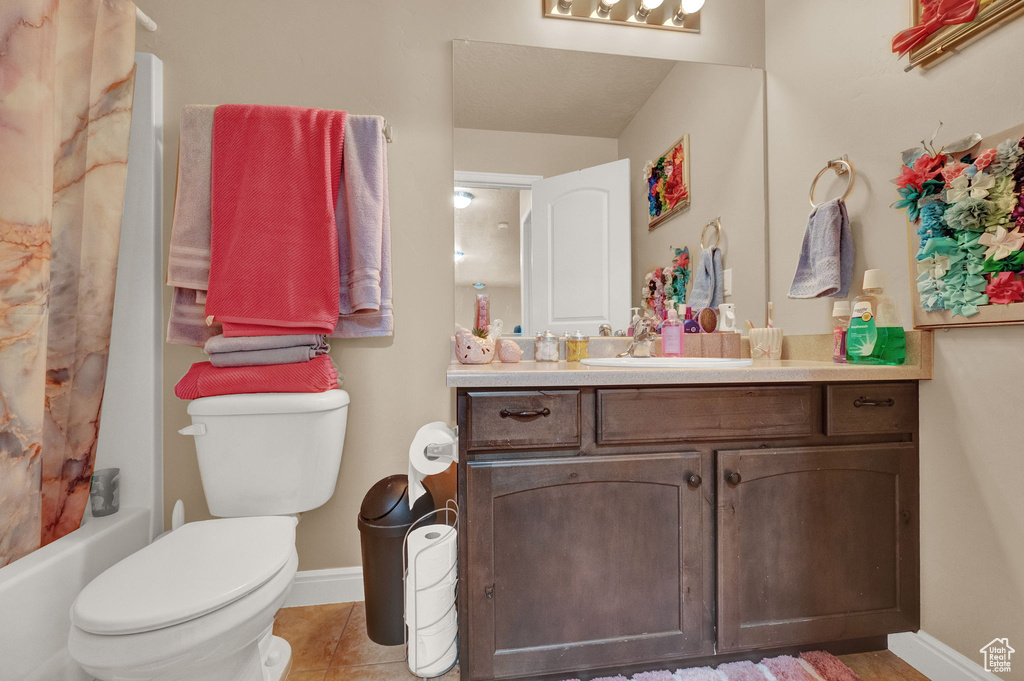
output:
M352 603L278 610L273 633L292 646L290 678L296 678L298 672L325 670L330 666L351 611Z

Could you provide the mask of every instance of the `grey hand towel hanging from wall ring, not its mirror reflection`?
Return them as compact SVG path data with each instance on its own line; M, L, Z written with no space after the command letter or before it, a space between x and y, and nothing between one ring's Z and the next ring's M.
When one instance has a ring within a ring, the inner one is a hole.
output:
M807 220L791 298L846 298L853 280L853 232L846 204L826 201Z

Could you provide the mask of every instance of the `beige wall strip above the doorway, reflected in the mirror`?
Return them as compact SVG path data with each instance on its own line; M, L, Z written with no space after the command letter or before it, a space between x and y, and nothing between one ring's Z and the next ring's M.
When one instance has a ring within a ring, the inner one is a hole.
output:
M552 177L618 159L614 138L455 129L455 169Z

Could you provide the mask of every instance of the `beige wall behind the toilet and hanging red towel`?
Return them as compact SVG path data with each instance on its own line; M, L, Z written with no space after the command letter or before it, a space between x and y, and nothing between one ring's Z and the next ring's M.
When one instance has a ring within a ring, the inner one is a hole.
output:
M148 0L160 25L137 47L164 61L165 242L170 233L178 113L185 103L250 102L346 109L386 116L395 336L333 343L352 395L337 493L298 528L302 569L357 565L362 495L406 470L409 442L428 421L452 421L444 387L454 269L452 43L513 42L670 59L762 66L764 7L716 0L703 32L680 35L546 19L526 0ZM167 298L165 297L165 309ZM186 518L208 516L187 424L172 388L200 350L168 346L164 360L165 518L180 498Z

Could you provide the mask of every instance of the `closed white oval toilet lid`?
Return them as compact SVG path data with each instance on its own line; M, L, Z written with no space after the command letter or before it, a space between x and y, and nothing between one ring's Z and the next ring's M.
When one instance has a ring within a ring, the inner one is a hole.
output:
M295 524L289 516L186 523L90 582L72 622L93 634L137 634L212 612L285 566Z

